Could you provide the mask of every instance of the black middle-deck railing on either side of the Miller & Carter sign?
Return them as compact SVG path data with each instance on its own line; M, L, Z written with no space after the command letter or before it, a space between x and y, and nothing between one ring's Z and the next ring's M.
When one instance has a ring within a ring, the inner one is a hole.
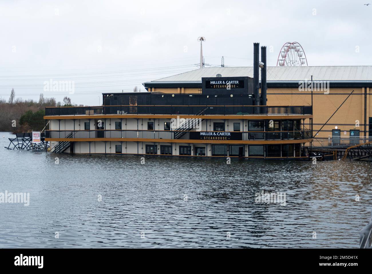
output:
M74 134L73 134L74 133ZM182 134L180 134L182 133ZM189 140L190 131L179 130L47 130L45 138L125 138L125 139L182 139ZM243 132L243 140L304 140L310 131Z

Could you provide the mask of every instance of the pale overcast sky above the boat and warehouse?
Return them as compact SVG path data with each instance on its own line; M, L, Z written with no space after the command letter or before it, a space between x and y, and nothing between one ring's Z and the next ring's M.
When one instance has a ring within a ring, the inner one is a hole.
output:
M212 66L222 55L225 66L252 66L253 42L276 66L294 41L309 66L371 65L369 1L1 0L0 96L14 88L16 98L102 104L102 92L143 91L143 82L198 68L198 36ZM45 91L50 79L74 91Z

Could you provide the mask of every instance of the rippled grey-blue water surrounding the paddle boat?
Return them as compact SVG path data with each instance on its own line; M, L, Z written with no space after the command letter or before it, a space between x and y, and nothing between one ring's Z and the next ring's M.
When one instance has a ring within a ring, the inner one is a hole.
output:
M13 136L0 134L0 192L30 195L29 206L0 203L0 248L358 248L371 218L372 162L141 164L6 150ZM262 191L286 205L257 203Z

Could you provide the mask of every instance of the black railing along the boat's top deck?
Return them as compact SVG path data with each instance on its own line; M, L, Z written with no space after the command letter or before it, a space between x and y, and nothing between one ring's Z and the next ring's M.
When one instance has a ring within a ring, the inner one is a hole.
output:
M47 107L46 116L98 114L304 115L311 106L67 106Z

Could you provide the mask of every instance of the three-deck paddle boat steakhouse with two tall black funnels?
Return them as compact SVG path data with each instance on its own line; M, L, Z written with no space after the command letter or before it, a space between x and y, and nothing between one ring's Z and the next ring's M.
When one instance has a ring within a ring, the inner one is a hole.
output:
M267 106L266 47L259 61L254 44L253 78L217 74L200 80L147 82L147 92L103 93L102 106L47 107L49 151L308 159L312 106ZM198 93L187 92L195 86Z

